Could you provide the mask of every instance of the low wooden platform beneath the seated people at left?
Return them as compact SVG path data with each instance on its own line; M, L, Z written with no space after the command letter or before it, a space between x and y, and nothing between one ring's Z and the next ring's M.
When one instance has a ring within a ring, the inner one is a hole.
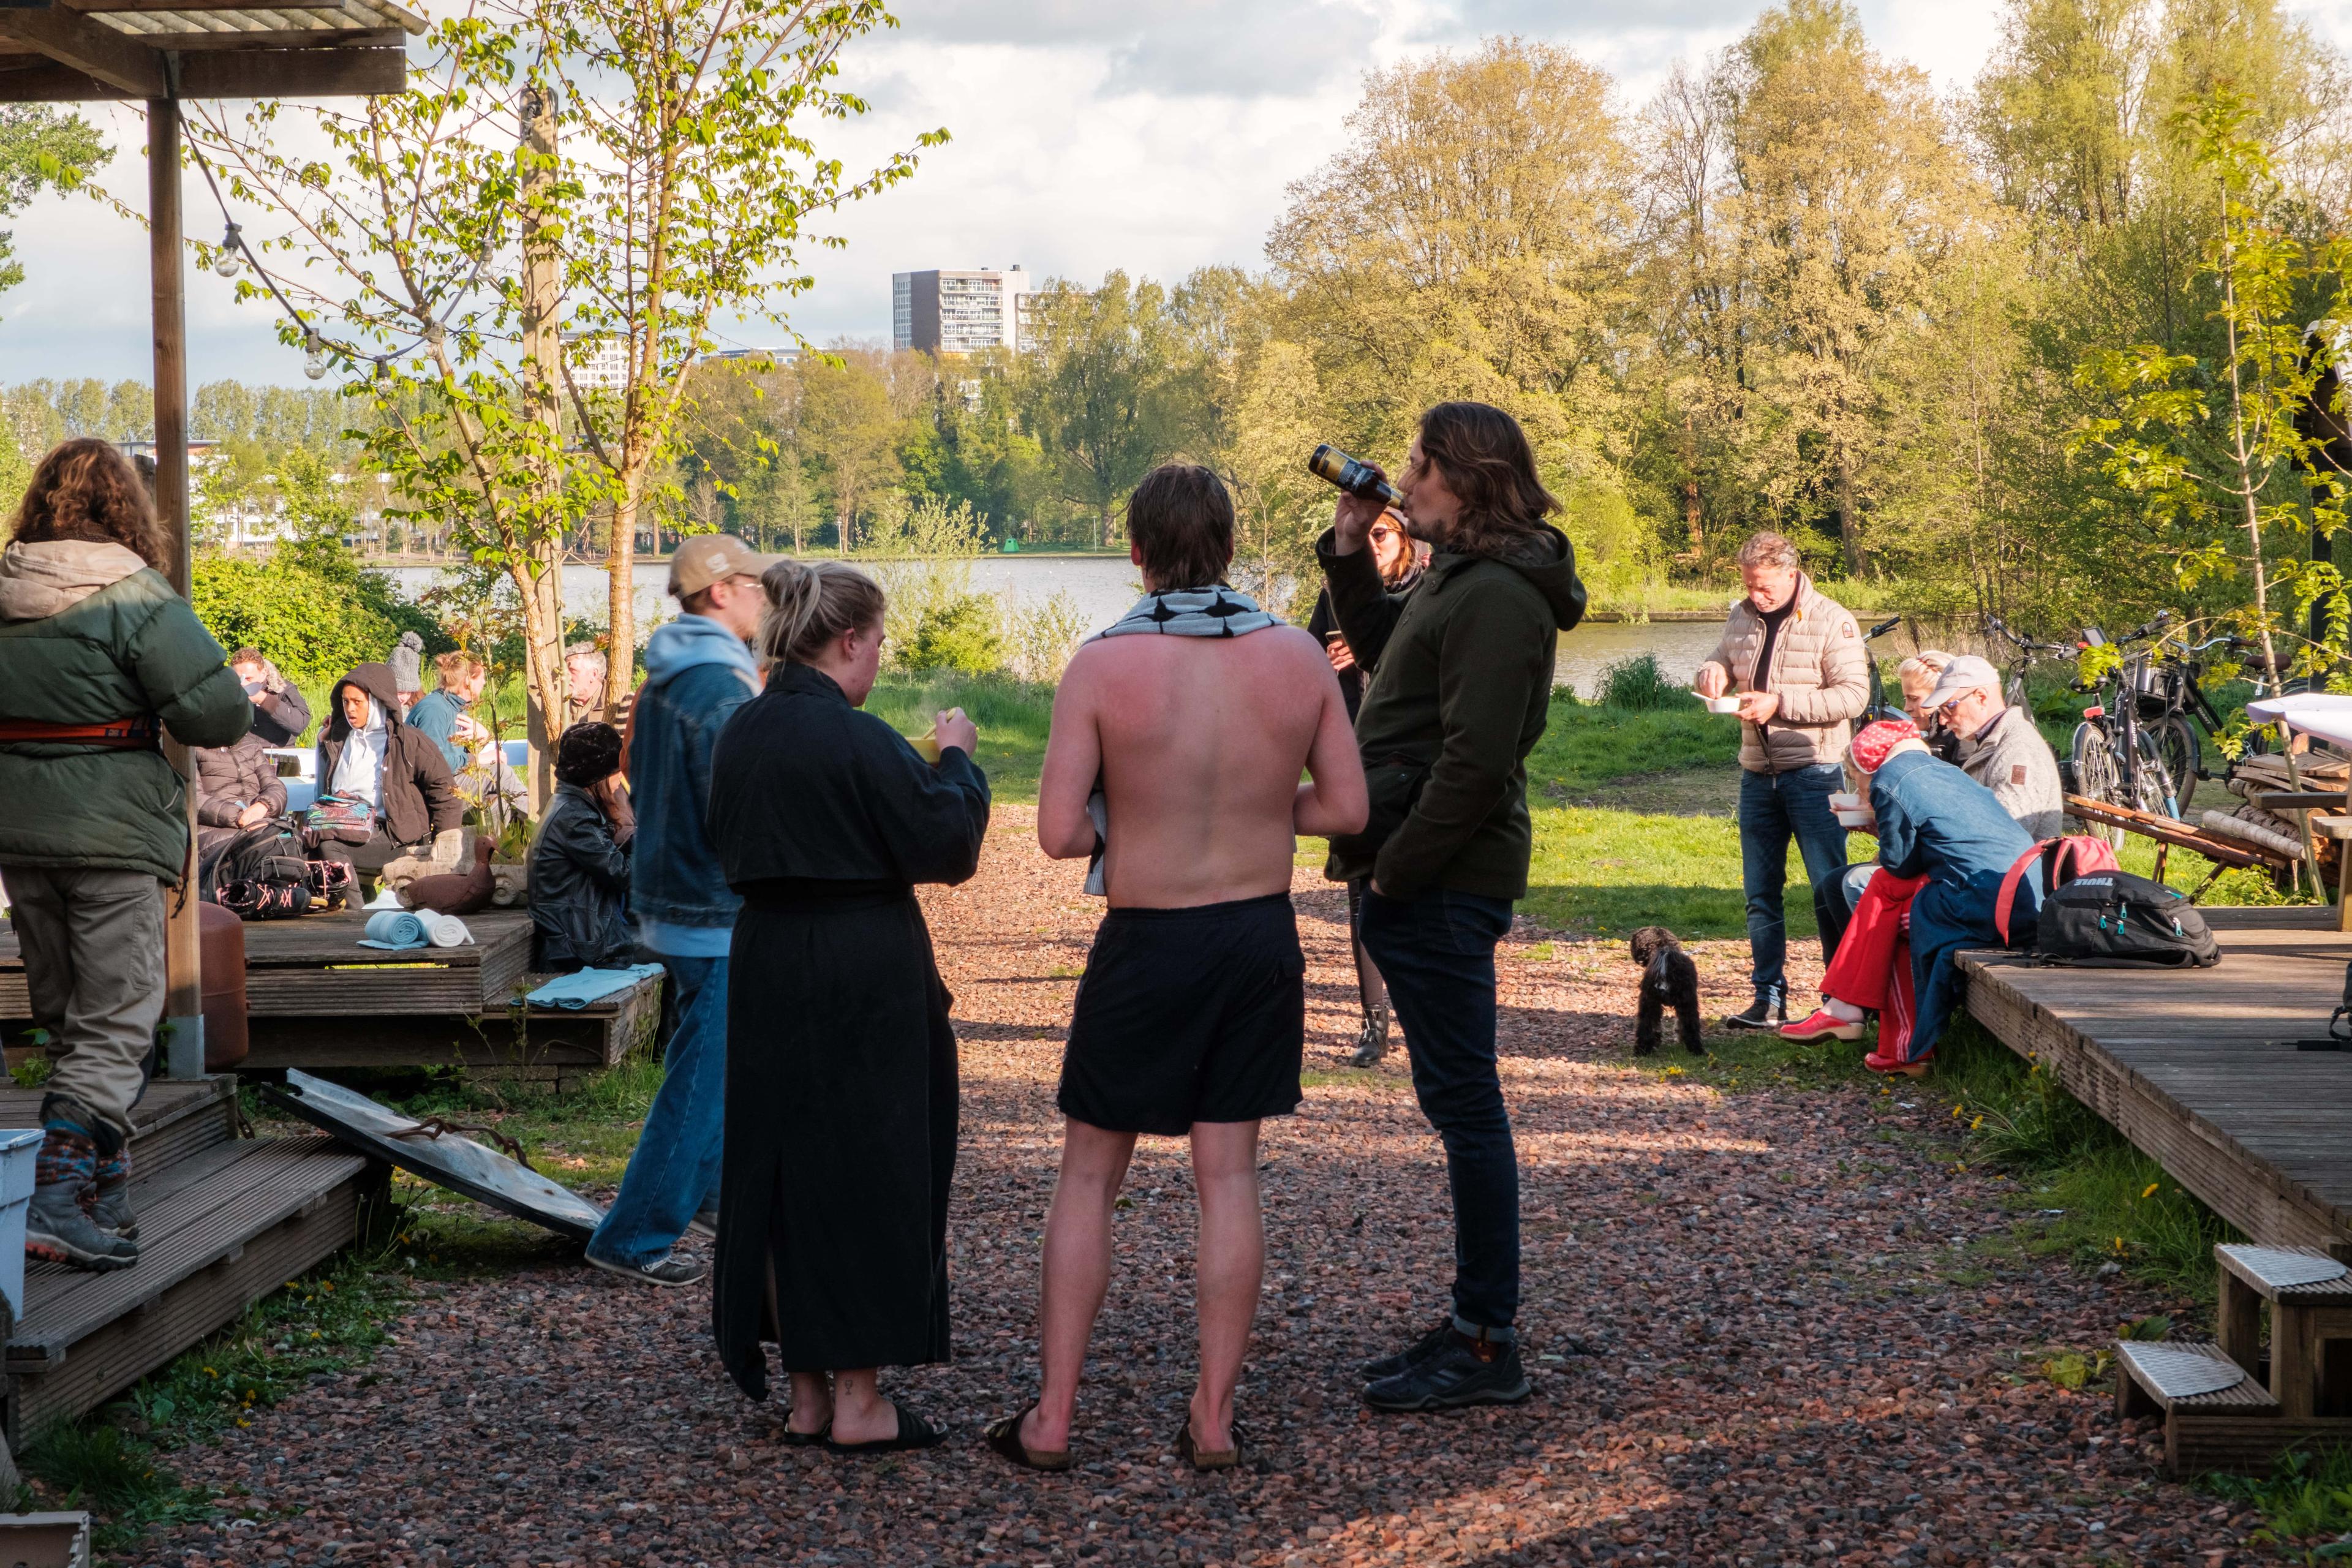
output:
M360 947L365 912L245 926L252 1072L466 1067L569 1086L659 1032L661 983L579 1011L524 1009L529 910L468 914L466 947ZM31 1020L16 936L0 929L0 1020Z

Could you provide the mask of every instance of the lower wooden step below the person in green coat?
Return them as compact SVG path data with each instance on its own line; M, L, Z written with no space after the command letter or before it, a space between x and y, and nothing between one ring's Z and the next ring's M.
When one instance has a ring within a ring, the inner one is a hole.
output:
M139 1262L87 1274L26 1265L26 1319L7 1342L16 1443L82 1415L358 1234L381 1166L332 1138L247 1138L132 1168Z

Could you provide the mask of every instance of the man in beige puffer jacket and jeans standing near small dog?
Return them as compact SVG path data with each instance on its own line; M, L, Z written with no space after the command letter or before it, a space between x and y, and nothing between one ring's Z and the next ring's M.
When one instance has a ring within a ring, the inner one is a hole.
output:
M1698 665L1703 696L1740 693L1740 872L1748 891L1748 954L1755 1006L1724 1023L1778 1030L1788 1023L1788 842L1797 839L1813 884L1820 947L1837 952L1844 905L1825 889L1846 867L1846 830L1830 811L1844 788L1849 719L1870 703L1870 656L1844 604L1804 576L1778 534L1740 545L1748 597L1731 607L1724 639Z

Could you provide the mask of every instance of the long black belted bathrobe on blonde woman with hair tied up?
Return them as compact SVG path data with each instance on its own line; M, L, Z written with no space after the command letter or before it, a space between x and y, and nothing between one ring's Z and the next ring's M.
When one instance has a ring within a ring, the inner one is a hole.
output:
M743 896L727 966L727 1154L710 1324L727 1373L948 1359L957 1077L917 882L964 882L988 778L929 764L807 665L710 755L710 842Z

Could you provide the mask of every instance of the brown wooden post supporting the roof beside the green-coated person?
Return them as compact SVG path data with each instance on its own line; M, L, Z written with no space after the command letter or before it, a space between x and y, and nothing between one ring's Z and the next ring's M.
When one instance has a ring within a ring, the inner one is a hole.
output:
M148 292L155 322L155 517L172 538L172 588L191 588L188 313L179 244L179 101L148 99ZM205 971L195 905L195 759L167 741L188 804L188 863L165 891L165 1027L169 1077L205 1070ZM193 1067L191 1067L193 1063Z

